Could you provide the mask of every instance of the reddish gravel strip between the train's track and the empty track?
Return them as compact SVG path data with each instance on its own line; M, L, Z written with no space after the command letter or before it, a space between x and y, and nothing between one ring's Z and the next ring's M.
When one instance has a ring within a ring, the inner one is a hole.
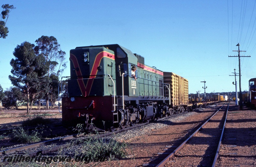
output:
M149 163L158 156L157 153L161 152L166 145L172 146L177 142L179 143L180 139L185 137L191 128L199 125L202 119L209 117L214 108L216 108L216 105L107 137L127 143L126 158L108 162L93 162L84 164L84 166L140 166ZM57 156L60 153L70 155L79 152L79 149L81 149L79 145L63 149L61 152L57 152ZM69 163L69 165L72 165L72 163ZM54 166L54 164L51 163L50 166Z

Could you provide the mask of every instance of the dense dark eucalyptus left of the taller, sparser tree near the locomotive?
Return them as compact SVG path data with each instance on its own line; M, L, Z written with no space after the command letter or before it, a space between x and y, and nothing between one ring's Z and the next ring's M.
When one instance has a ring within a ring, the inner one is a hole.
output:
M12 85L18 87L23 95L26 96L27 113L30 113L29 102L31 106L36 95L41 89L41 83L45 80L44 76L48 71L47 62L42 55L36 55L34 44L23 42L14 49L10 64L12 66L12 76L9 79Z

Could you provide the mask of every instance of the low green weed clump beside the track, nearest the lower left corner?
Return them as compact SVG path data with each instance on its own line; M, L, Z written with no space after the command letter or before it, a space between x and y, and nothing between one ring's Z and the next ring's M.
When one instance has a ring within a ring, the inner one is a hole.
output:
M40 136L42 133L39 133L37 130L33 130L31 133L25 131L22 127L20 129L13 130L13 138L14 140L29 143L29 142L37 142L40 141Z

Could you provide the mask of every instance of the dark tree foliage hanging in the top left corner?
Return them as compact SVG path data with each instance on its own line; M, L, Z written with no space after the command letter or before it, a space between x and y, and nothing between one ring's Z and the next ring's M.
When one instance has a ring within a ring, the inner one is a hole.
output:
M15 7L13 7L13 5L9 5L9 4L4 4L2 5L2 8L4 9L1 12L1 20L0 20L0 38L6 38L6 36L8 35L9 31L8 31L8 27L6 27L6 22L9 18L9 14L12 11L12 9L15 9Z

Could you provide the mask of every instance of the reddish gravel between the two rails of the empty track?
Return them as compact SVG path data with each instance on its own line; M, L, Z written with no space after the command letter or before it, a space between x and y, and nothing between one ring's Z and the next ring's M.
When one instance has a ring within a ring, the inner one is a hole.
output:
M222 109L165 166L212 166L224 125L227 105Z

